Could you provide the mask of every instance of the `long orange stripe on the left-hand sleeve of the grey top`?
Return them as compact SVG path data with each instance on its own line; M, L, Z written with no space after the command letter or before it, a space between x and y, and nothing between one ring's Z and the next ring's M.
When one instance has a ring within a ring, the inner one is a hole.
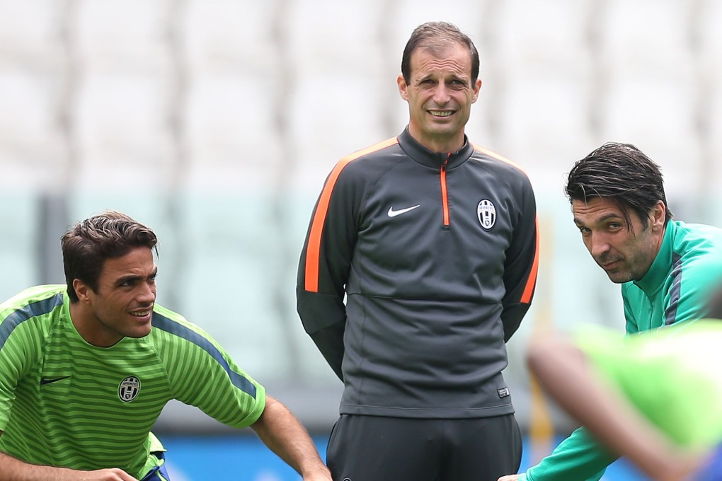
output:
M318 199L318 207L313 213L313 221L308 234L308 247L306 247L306 268L305 268L305 290L310 292L318 292L318 270L321 262L321 233L323 232L323 224L326 223L326 215L329 213L329 203L331 202L331 193L334 191L336 180L339 179L341 171L352 160L358 159L360 156L370 154L388 146L398 144L396 137L388 138L386 141L379 142L373 146L367 147L353 154L345 156L339 160L336 167L331 171L329 180L323 186L321 197Z

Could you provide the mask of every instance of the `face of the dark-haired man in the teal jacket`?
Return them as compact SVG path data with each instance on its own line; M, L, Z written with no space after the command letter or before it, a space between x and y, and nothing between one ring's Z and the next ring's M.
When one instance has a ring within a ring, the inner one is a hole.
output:
M638 281L647 273L664 237L664 203L651 210L645 227L637 213L622 210L609 198L572 201L574 223L591 257L614 283Z

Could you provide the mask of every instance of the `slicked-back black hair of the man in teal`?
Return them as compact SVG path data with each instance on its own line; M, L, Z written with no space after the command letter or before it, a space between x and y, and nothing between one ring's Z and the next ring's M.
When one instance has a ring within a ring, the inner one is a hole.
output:
M659 200L666 209L664 223L672 218L659 166L632 144L609 142L577 161L569 172L565 191L570 202L611 199L629 226L631 210L646 229L649 213Z

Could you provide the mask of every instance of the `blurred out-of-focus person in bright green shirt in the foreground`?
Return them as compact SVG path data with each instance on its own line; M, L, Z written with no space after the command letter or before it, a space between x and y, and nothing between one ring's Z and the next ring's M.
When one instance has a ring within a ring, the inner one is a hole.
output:
M656 481L722 481L722 296L710 319L630 337L531 345L529 369L570 415Z

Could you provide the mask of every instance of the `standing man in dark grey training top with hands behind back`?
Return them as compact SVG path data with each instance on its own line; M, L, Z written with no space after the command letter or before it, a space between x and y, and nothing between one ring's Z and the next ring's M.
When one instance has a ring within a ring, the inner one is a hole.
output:
M521 462L502 371L534 294L536 203L464 134L478 74L458 28L417 27L397 79L408 127L336 164L313 211L297 309L344 382L334 480L494 481Z

